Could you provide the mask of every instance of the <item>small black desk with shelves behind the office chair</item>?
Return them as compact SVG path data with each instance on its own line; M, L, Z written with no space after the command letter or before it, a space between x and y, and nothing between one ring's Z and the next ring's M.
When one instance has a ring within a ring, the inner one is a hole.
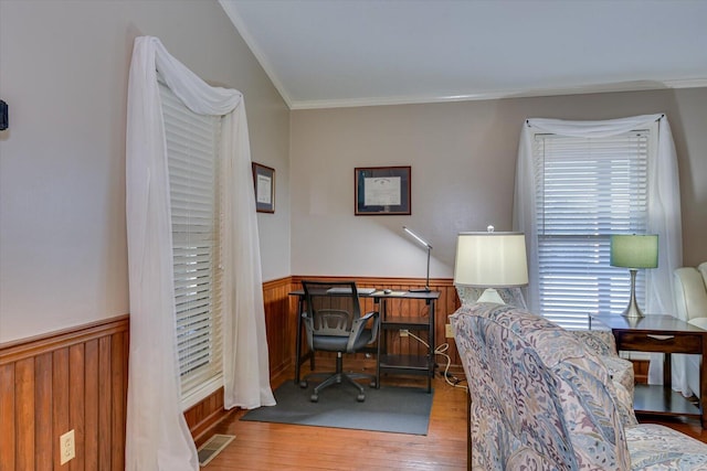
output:
M296 296L298 298L297 303L297 333L296 333L296 346L295 346L295 384L299 384L302 364L309 360L310 366L314 368L314 355L312 352L302 354L302 339L304 324L302 322L302 313L305 312L305 292L304 290L295 290L289 292L289 296ZM336 295L335 295L336 296ZM434 307L436 300L440 298L439 291L393 291L390 295L386 295L382 290L374 291L372 293L359 293L359 298L372 298L373 303L378 306L380 313L380 329L378 338L378 346L376 350L376 387L380 387L380 374L381 372L390 373L408 373L408 374L424 374L428 376L428 392L432 390L432 376L434 375ZM388 299L419 299L424 300L429 309L429 317L426 318L400 318L388 317L388 309L386 301ZM387 354L386 342L381 342L384 335L381 335L386 330L425 330L428 332L428 343L430 344L429 352L424 358L413 358L410 355L389 355ZM382 361L381 361L382 360Z

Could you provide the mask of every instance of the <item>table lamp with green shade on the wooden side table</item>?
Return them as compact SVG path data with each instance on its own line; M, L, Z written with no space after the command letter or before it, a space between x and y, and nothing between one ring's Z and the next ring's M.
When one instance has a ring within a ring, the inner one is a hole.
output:
M629 268L631 272L631 299L621 313L626 318L642 318L643 312L636 303L636 271L639 268L656 268L658 266L657 235L612 235L612 267Z

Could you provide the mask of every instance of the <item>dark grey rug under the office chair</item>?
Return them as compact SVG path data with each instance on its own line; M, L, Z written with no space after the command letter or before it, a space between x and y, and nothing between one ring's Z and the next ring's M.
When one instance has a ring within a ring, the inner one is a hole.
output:
M349 386L331 386L312 403L312 385L303 389L293 381L275 390L276 406L250 410L241 420L350 428L394 433L428 435L432 393L424 388L381 386L366 388L366 400Z

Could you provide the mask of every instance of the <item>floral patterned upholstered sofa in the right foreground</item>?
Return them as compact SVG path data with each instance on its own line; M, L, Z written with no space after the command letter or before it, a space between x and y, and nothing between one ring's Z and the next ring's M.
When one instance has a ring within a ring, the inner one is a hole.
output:
M631 396L576 335L520 308L452 317L469 385L474 470L707 470L707 445L639 425Z

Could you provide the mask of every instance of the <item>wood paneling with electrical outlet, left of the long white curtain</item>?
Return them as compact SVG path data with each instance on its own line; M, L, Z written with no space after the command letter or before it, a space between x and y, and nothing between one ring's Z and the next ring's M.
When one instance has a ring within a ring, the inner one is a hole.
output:
M0 470L123 469L127 345L128 315L0 345Z

